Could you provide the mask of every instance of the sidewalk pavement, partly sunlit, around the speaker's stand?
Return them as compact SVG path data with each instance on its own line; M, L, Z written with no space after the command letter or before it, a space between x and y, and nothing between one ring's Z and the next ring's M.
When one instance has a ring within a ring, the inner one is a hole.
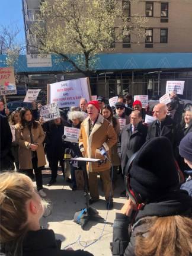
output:
M69 187L71 184L66 183L66 181L63 180L63 175L60 171L58 174L57 183L51 187L47 187L46 184L50 180L50 171L43 171L43 190L47 194L46 199L52 204L52 214L47 217L42 217L41 226L53 229L56 238L62 241L62 248L77 241L70 246L74 250L84 249L85 245L89 245L94 242L95 239L100 238L104 228L101 239L85 248L85 250L91 252L95 256L111 255L110 242L113 237L113 222L116 212L119 212L126 200L120 197L120 192L124 189L123 178L121 175L118 175L116 189L114 190L114 208L113 210L108 211L107 216L104 192L101 190L101 182L98 177L100 201L91 204L91 207L98 210L99 215L105 220L107 217L106 225L104 227L104 223L90 221L85 226L85 230L82 230L80 225L73 222L73 216L76 211L85 208L84 191L72 191ZM78 238L80 242L78 241Z

